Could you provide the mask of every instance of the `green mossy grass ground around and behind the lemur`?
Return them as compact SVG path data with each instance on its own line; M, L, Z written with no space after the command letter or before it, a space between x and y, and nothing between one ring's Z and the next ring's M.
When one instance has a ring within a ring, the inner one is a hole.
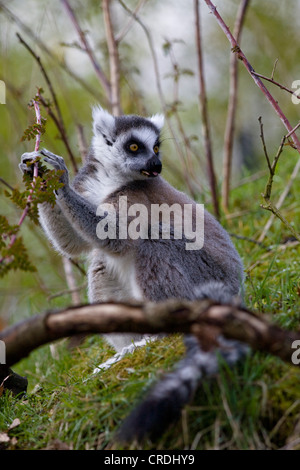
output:
M286 160L288 162L288 160ZM290 174L293 162L285 168ZM279 168L278 174L282 174ZM286 183L276 177L278 191ZM265 179L233 192L232 212L225 220L230 233L257 239L269 217L259 208ZM299 184L286 201L284 214L299 231ZM247 305L268 314L283 327L297 329L300 320L300 245L287 242L289 233L278 221L264 245L233 237L245 264ZM131 406L156 378L181 357L180 335L149 344L111 369L92 376L95 365L112 351L98 336L73 351L66 340L35 351L14 370L27 375L24 399L0 398L0 432L8 449L114 448L114 431ZM156 449L278 449L300 448L300 371L292 364L251 353L233 370L204 383L181 420L154 444ZM19 424L9 430L18 418ZM63 443L63 444L62 444ZM298 447L297 447L298 446ZM136 447L133 447L136 448Z

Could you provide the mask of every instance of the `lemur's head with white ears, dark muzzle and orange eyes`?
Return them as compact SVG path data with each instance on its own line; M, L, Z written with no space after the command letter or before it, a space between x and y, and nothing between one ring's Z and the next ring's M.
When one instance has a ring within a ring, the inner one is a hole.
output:
M94 157L110 172L128 180L157 177L162 169L160 130L163 116L113 117L94 110Z

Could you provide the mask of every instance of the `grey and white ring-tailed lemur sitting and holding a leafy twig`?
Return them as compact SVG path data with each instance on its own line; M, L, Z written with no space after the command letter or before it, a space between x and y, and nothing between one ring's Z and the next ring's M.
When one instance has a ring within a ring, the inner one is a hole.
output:
M242 262L227 232L206 211L201 220L204 243L197 250L186 249L184 236L175 237L175 213L169 239L162 236L162 223L160 236L151 238L148 219L149 236L124 237L119 228L115 237L99 237L101 221L105 219L107 224L121 221L119 202L122 197L127 198L128 207L140 204L147 213L151 213L153 205L175 207L175 204L179 209L189 205L195 226L196 203L160 176L163 122L161 115L113 117L96 107L90 152L72 185L69 185L62 157L47 150L39 154L55 169L64 170L61 177L64 186L57 191L56 205L43 203L39 207L41 225L54 248L63 255L73 257L88 253L90 302L108 299L157 302L204 297L226 302L239 294L243 281ZM35 156L36 153L22 155L20 168L23 172L30 171L27 163ZM105 211L99 212L99 206ZM183 223L183 219L179 219L179 224ZM107 340L120 351L141 337L110 334ZM203 352L194 337L187 337L185 344L186 357L125 420L119 440L156 437L179 417L201 377L217 371L215 352ZM219 351L229 363L234 363L245 352L245 347L221 338Z

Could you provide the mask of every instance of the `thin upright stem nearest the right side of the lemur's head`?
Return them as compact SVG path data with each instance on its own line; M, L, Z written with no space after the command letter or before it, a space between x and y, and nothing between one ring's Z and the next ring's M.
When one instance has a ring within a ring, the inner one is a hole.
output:
M216 175L214 170L213 154L212 154L212 143L210 137L210 126L208 119L207 110L207 96L204 79L204 68L202 58L202 44L201 44L201 24L200 24L200 5L199 0L194 0L195 9L195 21L196 21L196 49L198 57L198 76L199 76L199 101L200 110L202 115L202 133L204 139L204 149L206 156L206 164L209 178L210 191L213 201L214 213L217 218L220 217L219 201Z

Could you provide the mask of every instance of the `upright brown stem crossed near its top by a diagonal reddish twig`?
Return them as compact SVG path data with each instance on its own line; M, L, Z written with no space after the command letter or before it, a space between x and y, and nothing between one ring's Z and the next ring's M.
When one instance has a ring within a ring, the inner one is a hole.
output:
M236 42L240 42L242 27L249 5L249 0L243 0L237 12L233 35ZM230 83L229 83L229 102L227 120L224 135L224 156L223 156L223 184L222 184L222 204L227 212L229 207L230 177L232 167L232 149L235 129L235 115L237 105L237 89L238 89L238 60L235 54L230 56Z

